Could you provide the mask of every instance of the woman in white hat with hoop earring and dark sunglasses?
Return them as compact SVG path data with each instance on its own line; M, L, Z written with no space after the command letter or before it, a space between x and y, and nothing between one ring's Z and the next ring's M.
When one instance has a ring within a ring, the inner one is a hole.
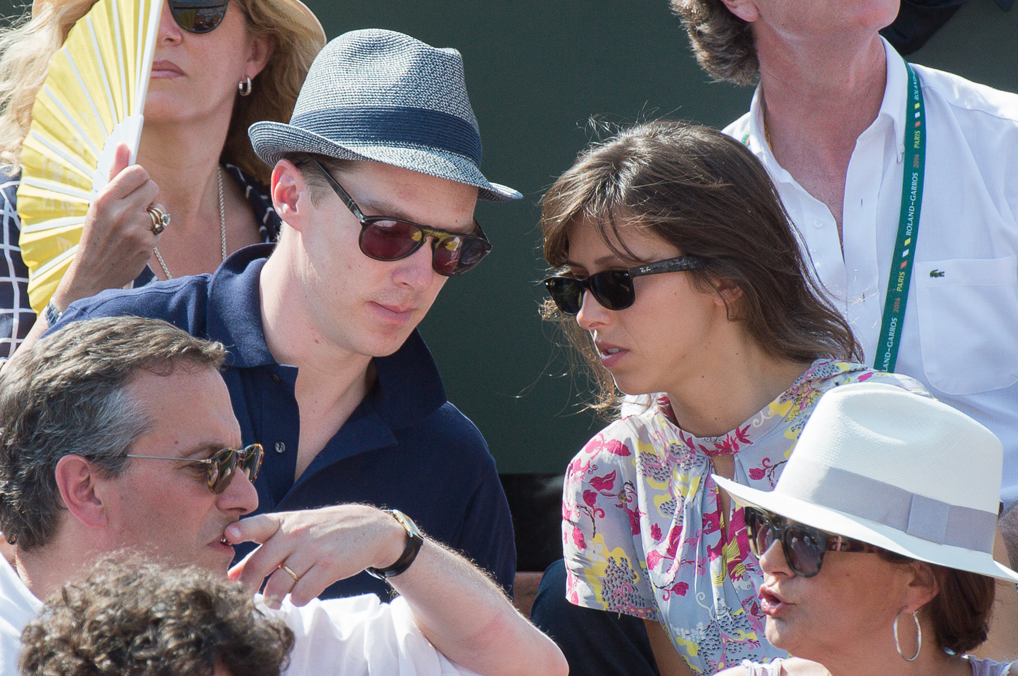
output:
M862 383L821 401L774 491L718 478L744 505L767 638L796 658L724 676L1018 673L967 655L1018 658L1018 572L999 562L1002 463L1000 440L968 416Z

